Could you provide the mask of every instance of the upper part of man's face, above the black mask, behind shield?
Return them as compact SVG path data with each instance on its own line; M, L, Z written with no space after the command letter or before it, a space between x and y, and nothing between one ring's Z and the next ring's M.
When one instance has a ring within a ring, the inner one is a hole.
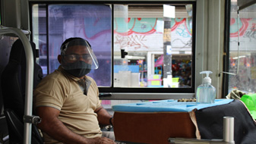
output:
M90 49L90 48L89 48ZM67 48L64 55L65 61L74 63L76 61L84 61L87 64L92 64L92 58L87 47L84 45L74 45Z

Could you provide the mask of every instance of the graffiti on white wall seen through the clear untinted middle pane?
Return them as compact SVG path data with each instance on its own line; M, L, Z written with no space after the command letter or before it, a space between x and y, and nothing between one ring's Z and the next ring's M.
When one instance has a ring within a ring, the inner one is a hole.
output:
M163 19L115 18L115 51L163 51ZM191 47L191 27L186 18L171 21L172 47Z

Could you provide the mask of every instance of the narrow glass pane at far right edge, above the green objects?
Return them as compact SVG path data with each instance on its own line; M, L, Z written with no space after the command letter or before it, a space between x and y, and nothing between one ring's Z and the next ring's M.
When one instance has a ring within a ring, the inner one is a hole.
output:
M256 5L239 11L232 1L229 42L229 92L256 92ZM239 42L239 45L238 45Z

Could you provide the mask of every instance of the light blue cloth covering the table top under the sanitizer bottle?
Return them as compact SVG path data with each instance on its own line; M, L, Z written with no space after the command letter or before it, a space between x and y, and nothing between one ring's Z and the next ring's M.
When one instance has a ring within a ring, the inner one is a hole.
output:
M215 99L213 104L199 104L197 102L178 102L178 100L168 99L153 102L136 102L129 104L113 105L113 111L127 112L189 112L193 109L202 109L216 105L224 105L234 99Z

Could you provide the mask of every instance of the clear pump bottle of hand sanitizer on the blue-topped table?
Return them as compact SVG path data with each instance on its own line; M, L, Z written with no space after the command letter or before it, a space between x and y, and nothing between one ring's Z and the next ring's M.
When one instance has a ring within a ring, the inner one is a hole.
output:
M213 74L213 72L202 71L200 74L206 74L207 77L204 77L203 83L198 86L196 92L197 102L200 104L212 104L216 99L216 89L211 85L209 74Z

